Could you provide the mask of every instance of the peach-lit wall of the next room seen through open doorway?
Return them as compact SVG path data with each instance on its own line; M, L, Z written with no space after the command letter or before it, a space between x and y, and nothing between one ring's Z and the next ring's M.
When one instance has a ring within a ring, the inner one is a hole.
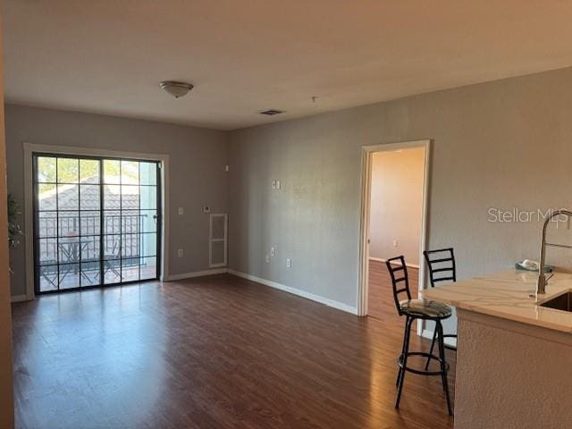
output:
M424 180L425 147L372 154L370 257L419 265Z

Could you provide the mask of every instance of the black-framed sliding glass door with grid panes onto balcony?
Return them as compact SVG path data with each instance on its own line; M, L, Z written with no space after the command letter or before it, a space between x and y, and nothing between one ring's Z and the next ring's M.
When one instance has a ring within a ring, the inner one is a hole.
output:
M36 293L156 280L160 164L34 155Z

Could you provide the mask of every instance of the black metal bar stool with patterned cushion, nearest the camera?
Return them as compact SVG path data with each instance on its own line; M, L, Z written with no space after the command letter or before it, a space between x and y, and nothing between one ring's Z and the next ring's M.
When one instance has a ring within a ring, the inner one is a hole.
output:
M411 292L409 290L408 268L405 265L404 257L392 257L385 262L387 269L391 275L391 283L393 286L393 299L395 300L395 307L399 315L406 316L405 333L403 335L403 348L398 359L398 366L400 367L397 376L397 400L395 408L400 408L401 391L403 390L403 381L405 380L406 371L413 374L420 375L441 375L443 383L443 391L447 399L447 408L449 415L453 415L450 404L449 383L447 382L447 372L449 371L449 364L445 361L445 348L443 343L443 328L442 320L447 319L452 314L449 306L440 302L426 301L425 299L411 299ZM400 287L400 285L402 287ZM400 294L405 293L407 299L400 300ZM435 332L437 332L437 343L439 344L439 356L434 356L432 353L421 351L409 351L409 338L411 335L411 325L416 319L430 320L435 323ZM421 356L431 360L434 359L439 362L440 371L428 371L427 369L418 370L408 367L408 357Z

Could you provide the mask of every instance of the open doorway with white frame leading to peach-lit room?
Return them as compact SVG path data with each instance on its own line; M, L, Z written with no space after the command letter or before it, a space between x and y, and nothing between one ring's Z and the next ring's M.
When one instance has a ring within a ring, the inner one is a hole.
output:
M385 266L391 257L405 257L415 298L423 289L429 143L364 147L360 315L400 320Z

